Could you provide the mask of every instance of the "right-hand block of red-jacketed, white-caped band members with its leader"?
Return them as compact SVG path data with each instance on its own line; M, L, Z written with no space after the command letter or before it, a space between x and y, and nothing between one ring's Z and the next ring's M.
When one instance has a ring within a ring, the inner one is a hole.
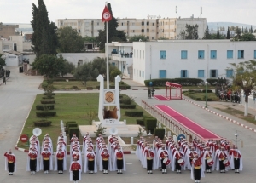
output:
M140 137L136 155L148 174L152 174L152 169L161 169L162 174L166 174L168 169L177 174L189 169L195 182L200 182L204 173L212 173L213 170L220 173L229 169L235 173L242 170L241 152L226 139L207 140L206 143L194 139L189 143L183 138L175 142L170 136L164 144L156 136L152 147Z

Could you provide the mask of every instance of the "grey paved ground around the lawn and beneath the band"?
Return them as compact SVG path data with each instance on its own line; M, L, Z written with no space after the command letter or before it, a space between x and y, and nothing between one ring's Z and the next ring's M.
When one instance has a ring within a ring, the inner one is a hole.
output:
M16 141L20 137L20 131L24 122L26 121L26 116L30 112L33 100L36 94L43 93L43 91L38 90L39 83L42 82L42 77L31 77L24 74L18 73L18 68L10 68L11 77L9 79L8 85L0 86L0 154L13 148ZM132 81L131 81L132 83ZM132 89L138 87L139 85L133 85ZM171 106L177 112L183 113L183 115L191 118L196 123L201 126L212 130L212 132L222 135L230 140L235 140L234 134L239 134L238 146L241 149L241 154L243 156L244 169L241 174L234 174L233 171L229 171L226 174L219 174L218 172L213 172L212 174L206 174L206 178L202 179L201 182L205 183L240 183L240 182L254 182L254 169L256 163L255 157L255 133L248 129L242 128L239 125L230 123L223 117L219 117L212 112L208 112L195 104L190 103L187 100L170 100L170 101L160 101L154 99L148 99L147 91L143 90L144 87L141 86L138 90L124 90L121 93L128 94L135 98L138 104L141 104L141 100L146 100L151 105L154 104L166 104ZM78 92L97 92L97 91L72 91L73 93ZM67 93L67 92L63 92ZM165 90L157 90L156 94L165 94ZM203 103L196 102L203 106ZM218 112L214 108L208 108ZM221 113L221 112L218 112ZM231 116L230 116L231 117ZM245 125L249 125L240 119L236 119ZM241 140L243 141L243 147L241 147ZM9 176L7 172L3 171L4 157L0 158L0 164L2 164L2 171L0 171L0 183L25 183L25 182L54 182L62 183L69 182L68 171L65 171L63 175L58 175L55 172L50 172L49 175L44 175L42 171L38 172L37 175L30 175L26 172L26 153L20 151L13 151L17 158L17 173L14 176ZM68 157L69 159L69 157ZM135 154L125 155L126 169L125 174L116 174L115 172L110 172L109 174L102 174L98 172L97 174L82 174L81 182L194 182L190 179L190 172L188 170L184 171L183 174L175 174L168 169L168 174L161 174L159 170L155 170L154 174L146 174L146 170L142 168ZM69 165L69 161L67 162Z

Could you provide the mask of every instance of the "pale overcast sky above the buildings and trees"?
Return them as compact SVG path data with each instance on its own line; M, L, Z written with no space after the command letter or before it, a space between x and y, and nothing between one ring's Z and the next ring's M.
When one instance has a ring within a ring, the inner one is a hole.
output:
M44 0L49 20L101 19L106 1L102 0ZM0 0L0 22L30 23L32 3L38 0ZM256 25L255 0L112 0L115 18L207 18L207 22L236 22ZM177 6L177 14L176 14ZM202 7L202 14L201 14Z

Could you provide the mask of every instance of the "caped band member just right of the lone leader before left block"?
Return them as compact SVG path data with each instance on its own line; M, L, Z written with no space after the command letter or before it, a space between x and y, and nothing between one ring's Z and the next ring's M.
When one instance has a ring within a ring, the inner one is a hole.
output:
M89 171L89 174L96 173L97 167L95 152L93 152L92 148L89 147L84 155L84 173L86 173L87 170Z

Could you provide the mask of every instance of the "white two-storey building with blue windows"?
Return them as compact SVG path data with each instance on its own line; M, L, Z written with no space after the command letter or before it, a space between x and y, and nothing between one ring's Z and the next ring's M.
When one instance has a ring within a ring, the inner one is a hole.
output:
M256 59L256 42L168 40L133 43L133 80L233 75L230 63ZM230 69L228 69L230 68Z

